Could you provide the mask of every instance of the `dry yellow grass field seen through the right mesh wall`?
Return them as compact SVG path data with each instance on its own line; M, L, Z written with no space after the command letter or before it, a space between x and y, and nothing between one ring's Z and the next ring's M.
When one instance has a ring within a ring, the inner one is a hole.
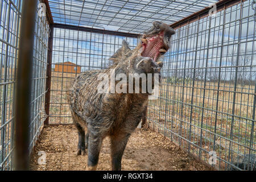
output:
M148 109L148 118L154 121L152 129L172 137L174 141L195 155L199 155L198 146L205 151L214 149L224 160L228 160L230 152L233 157L239 154L248 154L252 127L252 121L248 119L253 119L254 85L237 85L234 105L233 84L221 83L217 99L217 83L207 82L204 100L204 82L195 82L193 94L192 82L186 82L184 90L182 85L182 82L175 85L166 80L163 81L160 89L162 98L150 101ZM192 99L193 109L191 110ZM232 117L233 106L234 117ZM217 115L216 110L218 111ZM176 137L170 131L184 139ZM254 149L256 146L255 132L254 127L254 143L251 146ZM232 142L230 142L230 138L232 138ZM190 140L192 144L185 139ZM202 156L207 153L203 150L200 152L202 152Z

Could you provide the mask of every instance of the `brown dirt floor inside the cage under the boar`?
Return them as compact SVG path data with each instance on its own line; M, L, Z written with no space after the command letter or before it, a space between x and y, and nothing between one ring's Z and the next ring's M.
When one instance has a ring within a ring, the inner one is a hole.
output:
M36 144L31 170L86 170L87 156L76 156L78 135L75 126L47 126ZM39 165L39 151L46 152L46 165ZM111 170L109 139L102 144L97 170ZM209 170L180 150L170 140L147 129L131 135L122 158L122 170L187 171Z

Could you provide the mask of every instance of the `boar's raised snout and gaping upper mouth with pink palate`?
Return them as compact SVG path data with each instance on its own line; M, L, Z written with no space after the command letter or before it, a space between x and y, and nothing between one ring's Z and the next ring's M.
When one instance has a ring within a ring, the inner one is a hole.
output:
M142 35L141 56L150 57L157 61L161 55L168 51L171 35L174 34L174 29L166 23L154 22L152 28Z

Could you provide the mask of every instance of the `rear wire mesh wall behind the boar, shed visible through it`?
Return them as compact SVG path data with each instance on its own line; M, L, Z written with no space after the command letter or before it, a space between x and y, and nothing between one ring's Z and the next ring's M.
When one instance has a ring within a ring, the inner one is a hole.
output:
M51 76L50 124L72 123L66 92L81 72L109 66L110 56L125 39L130 48L137 38L54 28Z

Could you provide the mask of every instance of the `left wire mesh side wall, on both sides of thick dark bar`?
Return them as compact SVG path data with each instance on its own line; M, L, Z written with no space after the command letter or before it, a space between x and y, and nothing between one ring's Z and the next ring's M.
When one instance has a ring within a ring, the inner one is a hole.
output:
M13 169L14 96L18 61L19 29L22 1L0 1L0 170ZM30 151L42 126L44 104L48 24L45 17L36 15L33 52Z

